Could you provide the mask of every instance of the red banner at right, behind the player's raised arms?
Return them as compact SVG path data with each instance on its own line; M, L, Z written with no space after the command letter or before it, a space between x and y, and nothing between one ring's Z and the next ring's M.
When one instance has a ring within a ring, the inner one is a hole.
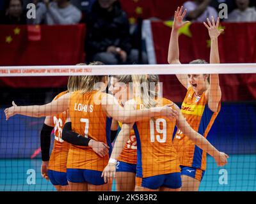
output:
M152 36L157 64L166 64L172 22L152 22ZM224 24L225 33L219 37L221 63L256 62L256 23ZM180 31L180 62L194 59L209 62L210 44L207 29L203 24L191 24ZM256 67L255 67L256 69ZM164 96L173 101L182 101L186 90L174 77L161 76ZM245 101L256 99L256 75L220 75L223 101ZM172 92L170 91L172 90Z

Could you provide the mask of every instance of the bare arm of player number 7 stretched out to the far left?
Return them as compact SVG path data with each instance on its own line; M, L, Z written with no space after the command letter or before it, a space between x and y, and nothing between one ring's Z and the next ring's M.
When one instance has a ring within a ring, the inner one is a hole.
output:
M57 115L59 113L65 112L65 110L68 109L70 96L71 93L67 93L60 98L52 101L51 103L40 106L16 106L13 101L13 106L4 110L6 120L16 114L26 115L30 117Z

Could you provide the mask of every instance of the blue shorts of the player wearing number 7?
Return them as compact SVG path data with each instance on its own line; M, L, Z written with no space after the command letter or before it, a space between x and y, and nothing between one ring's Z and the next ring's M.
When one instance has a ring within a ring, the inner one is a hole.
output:
M88 183L95 186L105 184L102 171L67 168L67 179L72 183Z

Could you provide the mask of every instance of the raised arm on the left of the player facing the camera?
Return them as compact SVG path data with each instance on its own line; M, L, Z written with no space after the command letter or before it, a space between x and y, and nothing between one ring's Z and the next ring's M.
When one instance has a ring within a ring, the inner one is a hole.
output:
M182 12L183 6L177 8L174 15L174 21L172 26L172 33L170 37L170 43L168 48L168 63L169 64L180 64L179 61L179 29L185 24L188 24L189 21L182 22L183 18L186 15L187 10ZM186 75L176 75L178 80L186 89L188 89L188 77Z

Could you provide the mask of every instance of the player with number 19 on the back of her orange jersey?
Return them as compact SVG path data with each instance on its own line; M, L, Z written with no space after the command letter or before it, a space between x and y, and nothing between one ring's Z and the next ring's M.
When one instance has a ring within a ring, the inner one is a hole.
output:
M145 78L150 77L152 76L144 76L139 78L139 80L140 82L146 82ZM156 98L156 96L157 94L154 90L150 89L148 94L146 90L145 94L141 94L141 98L127 101L125 103L125 110L131 111L172 103L168 99ZM196 145L211 154L218 166L227 163L228 156L216 150L204 136L196 133L189 126L188 122L186 122L177 105L173 104L172 108L177 110L179 115L168 118L164 116L154 117L153 119L140 120L135 124L123 124L120 134L116 138L108 166L106 166L102 173L105 182L107 179L111 179L113 176L115 177L116 158L122 152L122 147L124 147L128 140L132 127L136 135L138 154L136 191L180 191L182 184L180 178L180 162L177 152L172 145L172 135L175 125L184 131Z

